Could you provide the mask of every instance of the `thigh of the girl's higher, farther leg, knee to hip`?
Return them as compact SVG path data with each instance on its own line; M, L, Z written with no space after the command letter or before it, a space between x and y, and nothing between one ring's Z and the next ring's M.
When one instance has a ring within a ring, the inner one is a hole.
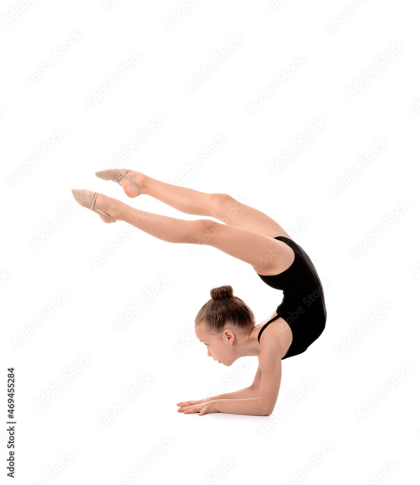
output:
M213 195L211 216L226 225L249 229L271 238L285 236L292 239L283 227L261 210L247 206L229 194Z

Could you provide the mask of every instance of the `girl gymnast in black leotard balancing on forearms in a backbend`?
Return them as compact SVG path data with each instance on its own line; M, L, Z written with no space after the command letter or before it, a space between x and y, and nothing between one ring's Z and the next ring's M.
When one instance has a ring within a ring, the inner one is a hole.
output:
M184 220L134 209L104 194L73 189L76 201L96 210L106 223L126 221L167 242L206 244L252 265L264 283L283 291L283 300L264 322L230 285L213 288L195 317L195 335L207 355L230 366L239 357L258 356L247 388L177 403L178 412L269 416L275 407L282 359L302 354L322 334L326 309L323 287L305 251L263 212L228 194L208 194L168 184L140 172L111 169L97 177L119 183L130 197L147 194L186 214L214 217Z

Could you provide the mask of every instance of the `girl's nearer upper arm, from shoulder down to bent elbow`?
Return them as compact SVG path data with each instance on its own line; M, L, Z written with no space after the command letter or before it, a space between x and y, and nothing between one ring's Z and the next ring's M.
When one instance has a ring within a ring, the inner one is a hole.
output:
M264 341L264 349L258 360L261 372L259 400L263 409L270 415L275 408L281 382L281 351L273 339Z

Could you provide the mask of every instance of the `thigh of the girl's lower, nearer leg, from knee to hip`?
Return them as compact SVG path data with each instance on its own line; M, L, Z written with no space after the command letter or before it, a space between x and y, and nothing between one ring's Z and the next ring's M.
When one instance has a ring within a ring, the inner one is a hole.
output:
M278 275L294 260L294 251L285 242L243 227L228 226L210 219L194 221L195 244L220 249L234 258L249 263L258 274Z

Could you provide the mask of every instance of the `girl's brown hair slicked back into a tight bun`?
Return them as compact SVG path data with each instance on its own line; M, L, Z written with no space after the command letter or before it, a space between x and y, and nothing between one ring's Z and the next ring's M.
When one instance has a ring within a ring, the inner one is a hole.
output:
M230 285L223 285L210 290L211 299L205 303L195 317L195 325L205 323L208 331L220 333L226 323L245 329L255 324L255 315L241 298L233 294Z

